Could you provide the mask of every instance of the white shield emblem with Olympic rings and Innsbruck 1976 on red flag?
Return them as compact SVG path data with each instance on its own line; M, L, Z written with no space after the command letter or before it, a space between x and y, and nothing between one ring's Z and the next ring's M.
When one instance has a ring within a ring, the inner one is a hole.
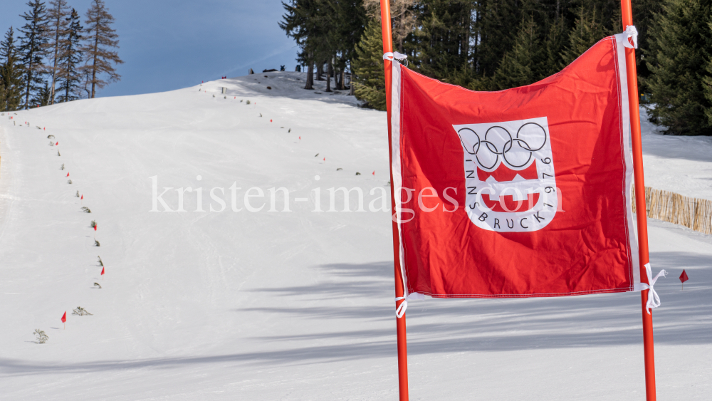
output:
M545 117L453 125L464 150L466 206L481 229L543 229L559 195Z

